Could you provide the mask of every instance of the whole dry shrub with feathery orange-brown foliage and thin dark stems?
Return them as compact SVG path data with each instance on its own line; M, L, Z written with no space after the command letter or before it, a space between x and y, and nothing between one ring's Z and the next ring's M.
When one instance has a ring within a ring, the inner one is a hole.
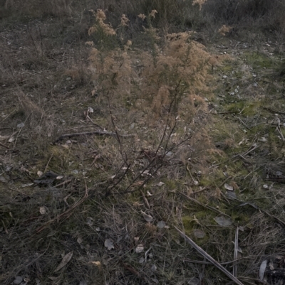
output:
M207 87L208 70L219 64L221 58L210 55L204 45L192 41L190 32L160 36L150 21L155 14L152 11L145 17L149 24L144 33L151 43L148 50L133 50L128 38L124 39L122 48L90 48L94 92L99 95L97 102L105 106L105 113L111 110L110 119L115 119L118 129L128 130L132 123L138 126L135 132L140 137L140 147L159 143L165 126L169 129L167 135L175 128L170 141L177 145L183 137L190 136L191 129L190 144L201 161L205 161L207 149L212 147L205 127L204 96L211 93ZM140 18L143 16L140 14ZM102 30L95 28L92 32L96 38ZM145 132L145 128L150 131ZM180 149L176 150L177 156L183 161L183 156L189 157L191 151L187 147Z

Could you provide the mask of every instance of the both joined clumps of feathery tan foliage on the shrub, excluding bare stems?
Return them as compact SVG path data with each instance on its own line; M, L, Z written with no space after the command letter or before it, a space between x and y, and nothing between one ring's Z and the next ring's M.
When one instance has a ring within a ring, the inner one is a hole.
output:
M200 108L205 106L199 93L208 91L207 70L217 59L207 53L204 45L192 41L191 36L189 32L167 35L165 47L155 45L152 53L136 55L137 63L132 60L132 50L100 52L92 48L90 69L95 85L100 84L105 94L115 91L120 99L135 93L133 106L150 117L161 117L174 97L182 102L179 113L191 114L193 109L194 114L194 103ZM130 45L128 41L125 46Z

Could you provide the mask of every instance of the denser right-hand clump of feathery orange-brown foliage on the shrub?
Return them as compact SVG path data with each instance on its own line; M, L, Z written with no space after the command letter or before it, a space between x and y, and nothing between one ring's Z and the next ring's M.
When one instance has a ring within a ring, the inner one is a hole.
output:
M207 91L205 81L209 77L211 56L203 45L191 41L191 33L167 35L166 43L156 51L155 62L150 55L142 58L145 60L140 82L142 92L150 97L155 116L161 115L174 97L180 101L178 114L190 115L191 110L194 114L193 98ZM204 100L199 103L199 107L204 106Z

